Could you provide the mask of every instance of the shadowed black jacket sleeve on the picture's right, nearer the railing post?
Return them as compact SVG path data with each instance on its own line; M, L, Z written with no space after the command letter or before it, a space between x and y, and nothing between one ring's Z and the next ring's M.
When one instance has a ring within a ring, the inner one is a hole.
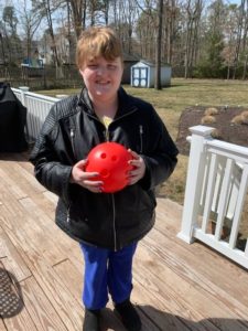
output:
M141 180L141 185L145 190L154 189L172 174L179 153L166 127L154 109L150 128L152 148L149 154L141 154L145 163L145 174Z

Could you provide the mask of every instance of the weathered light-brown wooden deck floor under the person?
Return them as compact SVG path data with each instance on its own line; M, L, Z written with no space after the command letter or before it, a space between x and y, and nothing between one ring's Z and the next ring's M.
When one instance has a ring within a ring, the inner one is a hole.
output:
M0 330L78 331L80 252L54 224L56 197L32 172L25 154L0 154ZM133 268L142 330L248 330L247 271L176 238L177 204L158 199L157 214ZM110 302L103 330L123 331Z

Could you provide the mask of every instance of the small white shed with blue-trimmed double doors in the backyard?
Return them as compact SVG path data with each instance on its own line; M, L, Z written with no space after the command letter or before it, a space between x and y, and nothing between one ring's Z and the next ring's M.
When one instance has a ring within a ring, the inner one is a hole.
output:
M131 66L131 86L134 87L154 87L155 65L150 62L140 61ZM161 85L171 85L171 66L161 65Z

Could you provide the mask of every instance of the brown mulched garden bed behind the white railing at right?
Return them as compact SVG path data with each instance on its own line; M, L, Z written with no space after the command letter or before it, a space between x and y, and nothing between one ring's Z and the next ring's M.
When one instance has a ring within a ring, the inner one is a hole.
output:
M204 126L215 128L216 136L214 138L236 143L239 146L248 147L248 125L247 124L234 124L231 120L247 110L241 107L214 107L217 109L217 114L213 117L215 122L204 122ZM202 120L205 116L205 111L209 107L194 106L186 108L181 117L179 124L179 134L176 138L176 146L182 154L188 156L190 143L186 141L186 137L191 136L190 127L202 125ZM209 120L211 121L211 120Z

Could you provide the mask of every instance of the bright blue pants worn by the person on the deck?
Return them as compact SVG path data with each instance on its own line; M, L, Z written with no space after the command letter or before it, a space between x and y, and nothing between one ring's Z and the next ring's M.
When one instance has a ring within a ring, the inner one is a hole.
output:
M117 252L80 243L85 258L83 302L88 309L101 309L108 302L119 303L132 290L132 258L137 243Z

